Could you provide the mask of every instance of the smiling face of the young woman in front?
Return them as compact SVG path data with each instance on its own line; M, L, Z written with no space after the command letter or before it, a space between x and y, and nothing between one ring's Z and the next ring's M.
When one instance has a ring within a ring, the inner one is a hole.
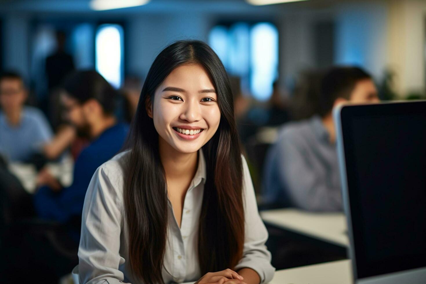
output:
M219 127L217 94L199 64L174 69L155 90L152 109L159 142L181 153L197 152Z

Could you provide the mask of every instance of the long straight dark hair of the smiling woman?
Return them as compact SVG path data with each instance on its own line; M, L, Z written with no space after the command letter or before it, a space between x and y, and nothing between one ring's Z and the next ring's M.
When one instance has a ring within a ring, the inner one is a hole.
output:
M177 41L155 58L148 72L130 130L125 166L124 205L130 267L145 283L164 283L161 275L167 240L167 192L158 152L158 133L146 105L155 89L178 66L204 67L218 96L221 119L203 146L207 178L199 218L201 273L233 268L242 258L244 209L242 161L229 80L219 57L201 41Z

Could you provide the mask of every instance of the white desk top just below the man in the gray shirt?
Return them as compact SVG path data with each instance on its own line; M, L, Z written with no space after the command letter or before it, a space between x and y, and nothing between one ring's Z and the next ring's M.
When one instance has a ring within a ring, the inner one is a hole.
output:
M346 218L343 213L306 212L286 208L261 211L263 221L309 237L343 247L349 246Z

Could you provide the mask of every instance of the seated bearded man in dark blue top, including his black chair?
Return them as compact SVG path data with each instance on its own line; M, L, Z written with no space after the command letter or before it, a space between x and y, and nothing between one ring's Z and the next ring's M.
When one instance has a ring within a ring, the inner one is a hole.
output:
M95 71L75 72L63 83L61 100L68 120L90 138L74 165L73 183L62 187L47 170L33 196L37 221L14 227L6 238L5 283L57 284L78 264L81 214L95 170L122 147L128 126L117 123L117 91ZM25 273L19 273L25 271ZM3 278L2 278L3 280Z

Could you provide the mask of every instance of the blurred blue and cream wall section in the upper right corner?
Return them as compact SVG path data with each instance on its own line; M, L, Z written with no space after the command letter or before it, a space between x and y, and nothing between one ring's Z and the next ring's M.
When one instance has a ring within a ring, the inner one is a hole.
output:
M380 79L394 72L400 97L424 93L426 1L347 3L337 9L338 64L358 64Z

